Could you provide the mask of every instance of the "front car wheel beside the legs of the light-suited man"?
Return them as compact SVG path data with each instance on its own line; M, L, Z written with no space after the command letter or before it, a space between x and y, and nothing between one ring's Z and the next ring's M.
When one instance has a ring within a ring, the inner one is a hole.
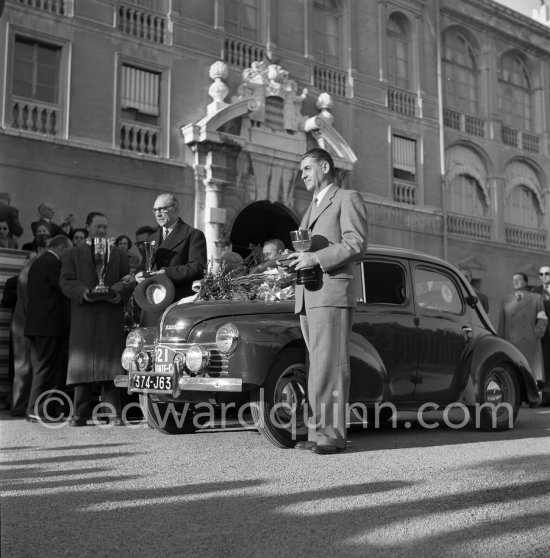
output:
M279 448L294 447L307 438L305 350L291 348L274 361L264 385L251 395L256 428Z

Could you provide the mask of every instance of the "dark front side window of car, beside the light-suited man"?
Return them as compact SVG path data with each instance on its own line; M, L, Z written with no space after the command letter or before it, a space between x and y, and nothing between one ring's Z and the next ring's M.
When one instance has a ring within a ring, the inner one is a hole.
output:
M363 262L367 304L395 304L403 306L407 300L405 270L390 262Z

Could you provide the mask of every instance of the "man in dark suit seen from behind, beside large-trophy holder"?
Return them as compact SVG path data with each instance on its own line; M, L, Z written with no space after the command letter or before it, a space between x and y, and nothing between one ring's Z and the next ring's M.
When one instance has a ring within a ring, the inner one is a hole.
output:
M32 384L27 405L27 420L31 422L44 420L52 412L46 401L36 406L40 395L65 383L71 310L69 299L61 292L59 276L61 258L72 247L65 235L54 237L29 270L25 336L31 345Z

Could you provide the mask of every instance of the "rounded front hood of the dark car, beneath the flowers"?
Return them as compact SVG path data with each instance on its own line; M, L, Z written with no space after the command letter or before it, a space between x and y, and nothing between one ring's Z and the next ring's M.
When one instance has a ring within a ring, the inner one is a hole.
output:
M160 324L161 338L187 339L193 327L202 321L232 316L293 314L294 300L215 300L172 304Z

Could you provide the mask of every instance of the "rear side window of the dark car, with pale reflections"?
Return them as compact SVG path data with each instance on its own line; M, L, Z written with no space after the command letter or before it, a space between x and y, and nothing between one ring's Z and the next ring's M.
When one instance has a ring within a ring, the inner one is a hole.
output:
M462 314L464 305L453 280L431 269L416 268L414 292L418 305L427 310Z

